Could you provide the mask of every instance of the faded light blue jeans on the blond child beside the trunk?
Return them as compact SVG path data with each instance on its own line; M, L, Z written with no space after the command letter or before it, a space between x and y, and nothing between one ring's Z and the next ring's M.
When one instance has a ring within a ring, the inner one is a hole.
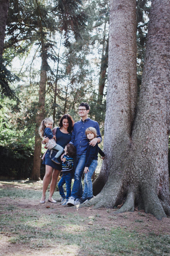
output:
M82 198L88 198L93 196L93 185L91 181L91 176L93 175L94 171L97 167L97 160L93 160L91 165L89 166L89 172L85 173L84 176L84 191Z

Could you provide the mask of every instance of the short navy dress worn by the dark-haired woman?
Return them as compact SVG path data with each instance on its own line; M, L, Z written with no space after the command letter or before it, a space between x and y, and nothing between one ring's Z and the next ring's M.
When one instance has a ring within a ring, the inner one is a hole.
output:
M56 130L56 143L65 148L65 146L70 142L71 140L71 132L70 133L63 133L60 131L59 127L57 127ZM63 151L64 152L64 151ZM45 158L43 160L44 165L49 165L53 167L56 170L61 171L62 165L57 165L57 163L54 163L51 159L55 157L57 151L54 149L48 149L48 151L45 154ZM61 162L60 158L58 158L59 162ZM62 163L62 162L61 162Z

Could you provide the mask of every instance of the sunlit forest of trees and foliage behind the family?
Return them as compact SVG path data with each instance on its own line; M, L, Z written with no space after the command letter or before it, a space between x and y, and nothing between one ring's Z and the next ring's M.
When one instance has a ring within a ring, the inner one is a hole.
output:
M150 1L136 1L138 93L149 12ZM104 135L108 28L108 0L9 1L0 55L1 179L42 179L40 122L52 116L58 126L64 113L77 121L82 101Z

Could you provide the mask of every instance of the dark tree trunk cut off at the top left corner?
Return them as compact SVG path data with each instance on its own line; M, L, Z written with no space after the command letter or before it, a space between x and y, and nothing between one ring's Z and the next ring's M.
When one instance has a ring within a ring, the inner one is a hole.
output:
M2 58L9 0L0 0L0 58Z

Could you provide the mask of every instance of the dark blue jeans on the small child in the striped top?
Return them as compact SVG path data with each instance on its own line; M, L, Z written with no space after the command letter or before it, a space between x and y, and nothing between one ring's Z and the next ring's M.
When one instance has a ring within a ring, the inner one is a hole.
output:
M73 177L73 173L64 173L59 181L58 188L60 192L60 196L68 199L71 195L71 180ZM66 196L63 190L63 185L66 184Z

